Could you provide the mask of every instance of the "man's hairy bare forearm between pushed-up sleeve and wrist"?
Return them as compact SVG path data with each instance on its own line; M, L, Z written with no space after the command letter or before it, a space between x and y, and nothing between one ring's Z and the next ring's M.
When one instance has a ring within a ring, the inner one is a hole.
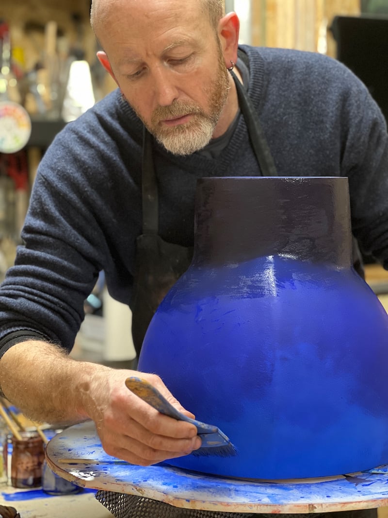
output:
M26 341L1 359L0 386L31 419L65 425L91 418L85 405L89 380L103 377L105 370L77 362L52 344Z

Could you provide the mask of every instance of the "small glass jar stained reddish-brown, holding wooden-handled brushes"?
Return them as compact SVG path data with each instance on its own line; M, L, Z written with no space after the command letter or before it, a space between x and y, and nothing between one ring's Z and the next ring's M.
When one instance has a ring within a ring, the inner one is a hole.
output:
M32 431L20 433L22 440L12 437L11 485L18 488L39 487L44 461L43 441Z

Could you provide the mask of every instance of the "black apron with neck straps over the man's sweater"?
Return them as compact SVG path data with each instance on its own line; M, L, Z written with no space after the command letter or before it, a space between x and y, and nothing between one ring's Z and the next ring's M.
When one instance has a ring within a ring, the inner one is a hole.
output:
M249 139L261 174L277 176L259 117L241 82L232 73L238 104L248 127ZM152 136L144 128L142 163L143 228L136 241L136 272L131 300L132 338L139 357L151 319L171 286L190 266L193 248L164 241L158 235L158 188L152 154Z

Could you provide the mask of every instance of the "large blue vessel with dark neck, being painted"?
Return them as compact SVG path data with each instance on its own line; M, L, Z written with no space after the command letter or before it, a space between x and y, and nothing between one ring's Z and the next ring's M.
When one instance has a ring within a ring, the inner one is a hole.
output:
M139 370L237 448L171 465L325 477L388 463L387 344L388 316L352 267L347 178L204 178L192 263Z

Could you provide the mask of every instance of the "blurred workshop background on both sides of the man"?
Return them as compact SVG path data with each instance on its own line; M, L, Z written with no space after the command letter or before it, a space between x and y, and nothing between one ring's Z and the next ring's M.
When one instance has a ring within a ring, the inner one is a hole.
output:
M361 77L388 117L388 0L225 1L226 11L235 10L240 17L241 43L339 59ZM0 281L22 244L20 229L41 157L67 122L116 87L96 58L99 47L89 26L90 4L90 0L0 2ZM8 102L22 106L31 119L31 136L16 152L2 148L7 128L2 128L1 103ZM365 262L366 280L388 310L388 272L369 257ZM103 272L85 300L85 312L73 357L135 366L131 313L109 297ZM0 472L2 480L6 485ZM92 496L66 497L66 509L56 506L54 513L54 504L46 502L39 516L62 516L62 512L67 516L72 505L78 512L85 505L84 515L92 515ZM40 505L38 500L18 502L16 507L31 510ZM99 512L106 516L97 508L93 515L98 518ZM379 510L382 516L388 517L388 508Z

